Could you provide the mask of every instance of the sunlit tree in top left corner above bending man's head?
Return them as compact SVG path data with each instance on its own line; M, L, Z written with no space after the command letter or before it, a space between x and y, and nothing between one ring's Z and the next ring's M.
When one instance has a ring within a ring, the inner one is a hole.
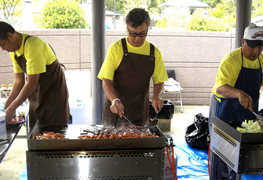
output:
M17 9L17 6L21 6L21 0L0 0L0 9L4 14L4 19L1 17L0 19L10 22L12 17L19 16L22 11Z

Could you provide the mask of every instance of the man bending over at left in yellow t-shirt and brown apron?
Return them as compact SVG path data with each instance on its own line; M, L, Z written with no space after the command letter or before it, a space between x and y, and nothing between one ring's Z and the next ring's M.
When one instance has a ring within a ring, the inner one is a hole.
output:
M51 46L3 21L0 21L0 46L10 53L15 72L15 82L5 103L7 122L29 98L30 128L37 119L42 125L67 125L70 113L66 79Z

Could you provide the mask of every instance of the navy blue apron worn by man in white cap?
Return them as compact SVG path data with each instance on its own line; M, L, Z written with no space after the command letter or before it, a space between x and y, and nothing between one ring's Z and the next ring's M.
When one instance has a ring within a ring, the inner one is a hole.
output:
M234 88L240 89L252 98L253 110L258 113L259 90L262 82L262 68L259 62L259 69L243 67L243 52L241 49L242 67L236 79ZM215 116L222 121L244 121L252 120L255 115L249 109L245 109L238 98L220 98L217 103ZM227 166L220 158L215 159L215 178L214 179L235 179L235 172Z

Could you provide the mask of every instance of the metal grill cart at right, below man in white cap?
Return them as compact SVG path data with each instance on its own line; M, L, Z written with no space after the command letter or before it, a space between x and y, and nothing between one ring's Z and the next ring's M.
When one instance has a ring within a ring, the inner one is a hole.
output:
M211 127L210 179L215 174L215 155L229 165L241 179L241 174L263 173L263 133L241 133L241 122L223 122L213 117Z

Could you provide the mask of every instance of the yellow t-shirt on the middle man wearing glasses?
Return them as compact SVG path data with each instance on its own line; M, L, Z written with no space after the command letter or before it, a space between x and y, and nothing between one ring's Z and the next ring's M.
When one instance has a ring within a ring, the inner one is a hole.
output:
M134 47L128 42L126 37L126 43L128 47L128 52L150 55L150 42L145 40L142 46ZM123 56L122 43L121 40L117 40L116 42L110 45L105 60L98 74L98 78L99 79L106 78L113 80L114 72L120 65L122 56ZM154 49L154 56L155 56L155 66L152 74L153 83L157 84L160 82L167 81L168 76L164 66L162 54L156 46Z

